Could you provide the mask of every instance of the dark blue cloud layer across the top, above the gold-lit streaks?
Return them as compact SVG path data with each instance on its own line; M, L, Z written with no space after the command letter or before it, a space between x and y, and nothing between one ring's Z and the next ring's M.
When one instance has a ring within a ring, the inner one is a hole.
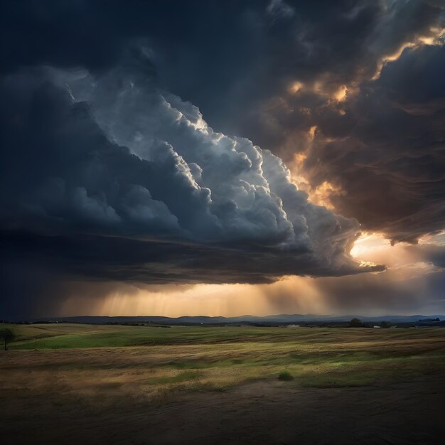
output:
M253 100L282 92L289 80L335 90L372 76L383 57L441 23L440 1L77 0L1 7L4 70L40 64L101 70L129 43L145 40L164 85L221 130L234 129Z

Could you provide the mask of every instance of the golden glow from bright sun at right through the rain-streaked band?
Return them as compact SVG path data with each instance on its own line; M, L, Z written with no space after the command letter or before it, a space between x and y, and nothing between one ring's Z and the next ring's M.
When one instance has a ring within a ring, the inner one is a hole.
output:
M444 237L443 234L432 235ZM427 244L430 238L422 240ZM445 242L445 240L444 240ZM421 245L421 244L419 244ZM410 279L423 285L422 277L435 272L415 246L390 240L381 233L364 232L350 251L360 264L385 264L386 272L355 274L346 277L283 277L272 284L195 284L137 287L132 284L111 288L98 296L95 291L83 294L82 289L60 306L58 316L85 312L107 316L241 316L274 313L344 313L343 293L360 295L363 283L375 289L405 289L412 291ZM89 286L92 286L90 283ZM97 288L97 293L100 289ZM353 289L351 291L351 289ZM422 289L419 288L421 292ZM402 295L404 295L402 293ZM419 294L419 298L422 294ZM414 296L412 297L414 298ZM338 301L338 306L336 306ZM348 301L351 308L364 305L367 299ZM383 300L382 300L383 301ZM386 301L386 300L385 300ZM383 304L383 303L382 303ZM374 308L375 309L375 308ZM353 309L351 309L353 310ZM377 309L375 309L377 310Z

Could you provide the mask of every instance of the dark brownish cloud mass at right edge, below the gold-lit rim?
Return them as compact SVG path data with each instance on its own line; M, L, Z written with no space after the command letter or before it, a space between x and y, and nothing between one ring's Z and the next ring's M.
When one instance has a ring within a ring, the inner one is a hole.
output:
M445 226L445 47L406 51L380 79L325 108L306 160L313 185L367 230L415 242Z

